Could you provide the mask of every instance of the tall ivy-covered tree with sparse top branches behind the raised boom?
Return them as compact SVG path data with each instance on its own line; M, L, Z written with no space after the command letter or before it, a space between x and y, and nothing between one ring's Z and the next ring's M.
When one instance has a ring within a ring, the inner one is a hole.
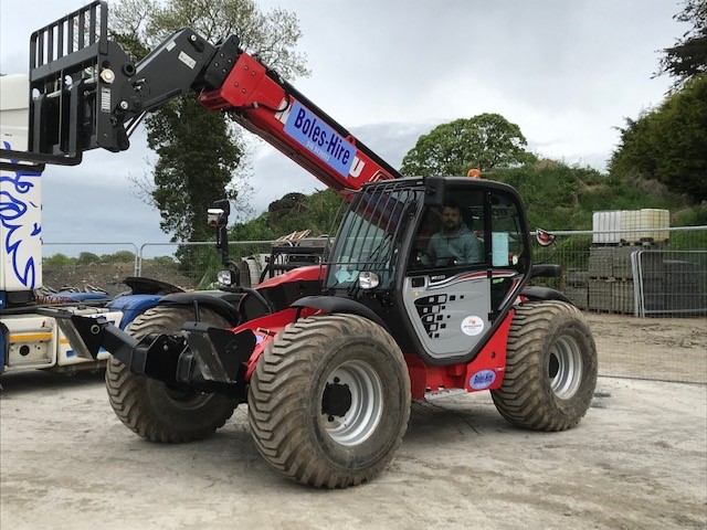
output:
M112 14L113 39L136 59L189 26L213 43L238 34L244 50L285 77L308 73L304 56L294 51L302 36L295 14L282 9L264 13L254 0L122 0ZM145 124L158 159L137 182L138 193L159 209L160 226L173 233L172 241L211 237L205 215L215 199L233 199L236 213L247 211L245 147L241 129L226 115L207 112L196 95L188 95Z

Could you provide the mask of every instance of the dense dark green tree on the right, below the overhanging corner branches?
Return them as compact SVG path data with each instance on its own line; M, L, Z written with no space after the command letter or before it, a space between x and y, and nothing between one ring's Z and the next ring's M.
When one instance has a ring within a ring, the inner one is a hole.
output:
M707 199L707 73L619 129L609 170L622 180L655 179L676 193Z

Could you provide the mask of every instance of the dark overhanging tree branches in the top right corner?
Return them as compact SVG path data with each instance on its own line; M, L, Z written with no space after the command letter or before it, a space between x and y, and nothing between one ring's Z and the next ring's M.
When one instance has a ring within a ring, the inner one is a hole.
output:
M659 74L676 77L676 86L707 72L707 2L686 0L683 11L673 17L692 28L674 46L663 50Z

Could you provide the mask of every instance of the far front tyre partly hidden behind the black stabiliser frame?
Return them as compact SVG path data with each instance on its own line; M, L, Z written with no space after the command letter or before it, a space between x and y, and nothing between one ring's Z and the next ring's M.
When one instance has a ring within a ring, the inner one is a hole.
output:
M133 320L126 331L134 337L147 333L177 333L193 320L190 308L157 306ZM200 310L200 318L214 326L229 322L214 311ZM110 405L120 421L151 442L192 442L204 438L233 415L238 401L220 394L184 391L155 379L130 372L110 357L106 367Z

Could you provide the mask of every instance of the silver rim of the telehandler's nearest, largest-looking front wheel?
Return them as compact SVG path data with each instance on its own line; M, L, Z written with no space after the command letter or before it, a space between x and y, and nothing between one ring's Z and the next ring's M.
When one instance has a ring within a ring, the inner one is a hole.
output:
M357 445L376 431L383 409L383 390L373 368L347 361L327 378L321 393L321 423L341 445Z

